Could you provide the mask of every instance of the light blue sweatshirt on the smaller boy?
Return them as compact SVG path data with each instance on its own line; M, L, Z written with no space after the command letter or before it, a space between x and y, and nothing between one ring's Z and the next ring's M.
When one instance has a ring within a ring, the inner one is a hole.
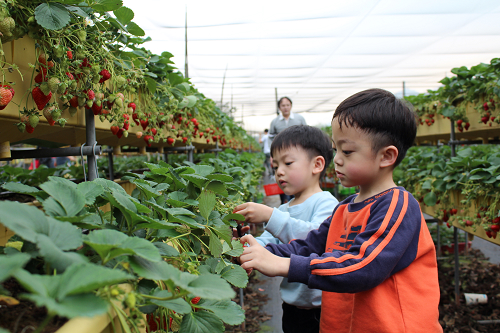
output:
M321 223L333 213L339 203L327 191L315 193L301 204L289 206L290 202L274 208L265 231L257 237L260 245L288 244L297 238L306 238L311 230L318 229ZM288 282L283 278L280 286L281 299L290 305L301 308L317 308L321 306L321 290L309 289L302 283Z

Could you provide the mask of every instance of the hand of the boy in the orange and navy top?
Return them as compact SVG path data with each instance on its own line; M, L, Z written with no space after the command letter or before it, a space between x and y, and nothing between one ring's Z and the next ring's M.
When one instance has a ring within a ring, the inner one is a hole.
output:
M241 237L242 244L248 243L239 260L245 270L255 268L267 276L288 276L290 258L278 257L260 245L252 235Z

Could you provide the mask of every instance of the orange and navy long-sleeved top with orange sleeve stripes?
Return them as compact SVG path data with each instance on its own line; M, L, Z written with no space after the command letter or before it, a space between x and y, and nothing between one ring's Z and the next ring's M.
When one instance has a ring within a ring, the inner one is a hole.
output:
M418 202L402 187L353 195L306 239L268 244L288 280L323 290L321 332L442 332L436 251Z

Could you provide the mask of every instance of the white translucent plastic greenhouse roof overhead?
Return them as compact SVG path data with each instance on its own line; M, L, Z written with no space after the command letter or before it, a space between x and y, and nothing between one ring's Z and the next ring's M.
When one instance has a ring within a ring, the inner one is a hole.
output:
M310 125L367 88L406 95L439 87L454 67L500 57L498 0L215 1L123 0L134 22L168 51L205 96L237 108L247 130L263 130L278 97Z

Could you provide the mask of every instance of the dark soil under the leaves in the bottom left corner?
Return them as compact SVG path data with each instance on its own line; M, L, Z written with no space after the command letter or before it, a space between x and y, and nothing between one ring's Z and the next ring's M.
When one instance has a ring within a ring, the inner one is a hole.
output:
M2 283L2 286L10 292L10 296L19 300L18 305L7 306L0 301L0 327L9 330L11 333L31 333L38 325L47 318L47 310L39 308L34 303L21 300L19 295L26 290L21 287L16 280L8 279ZM57 331L66 321L66 318L54 317L52 321L45 326L41 333L53 333Z

